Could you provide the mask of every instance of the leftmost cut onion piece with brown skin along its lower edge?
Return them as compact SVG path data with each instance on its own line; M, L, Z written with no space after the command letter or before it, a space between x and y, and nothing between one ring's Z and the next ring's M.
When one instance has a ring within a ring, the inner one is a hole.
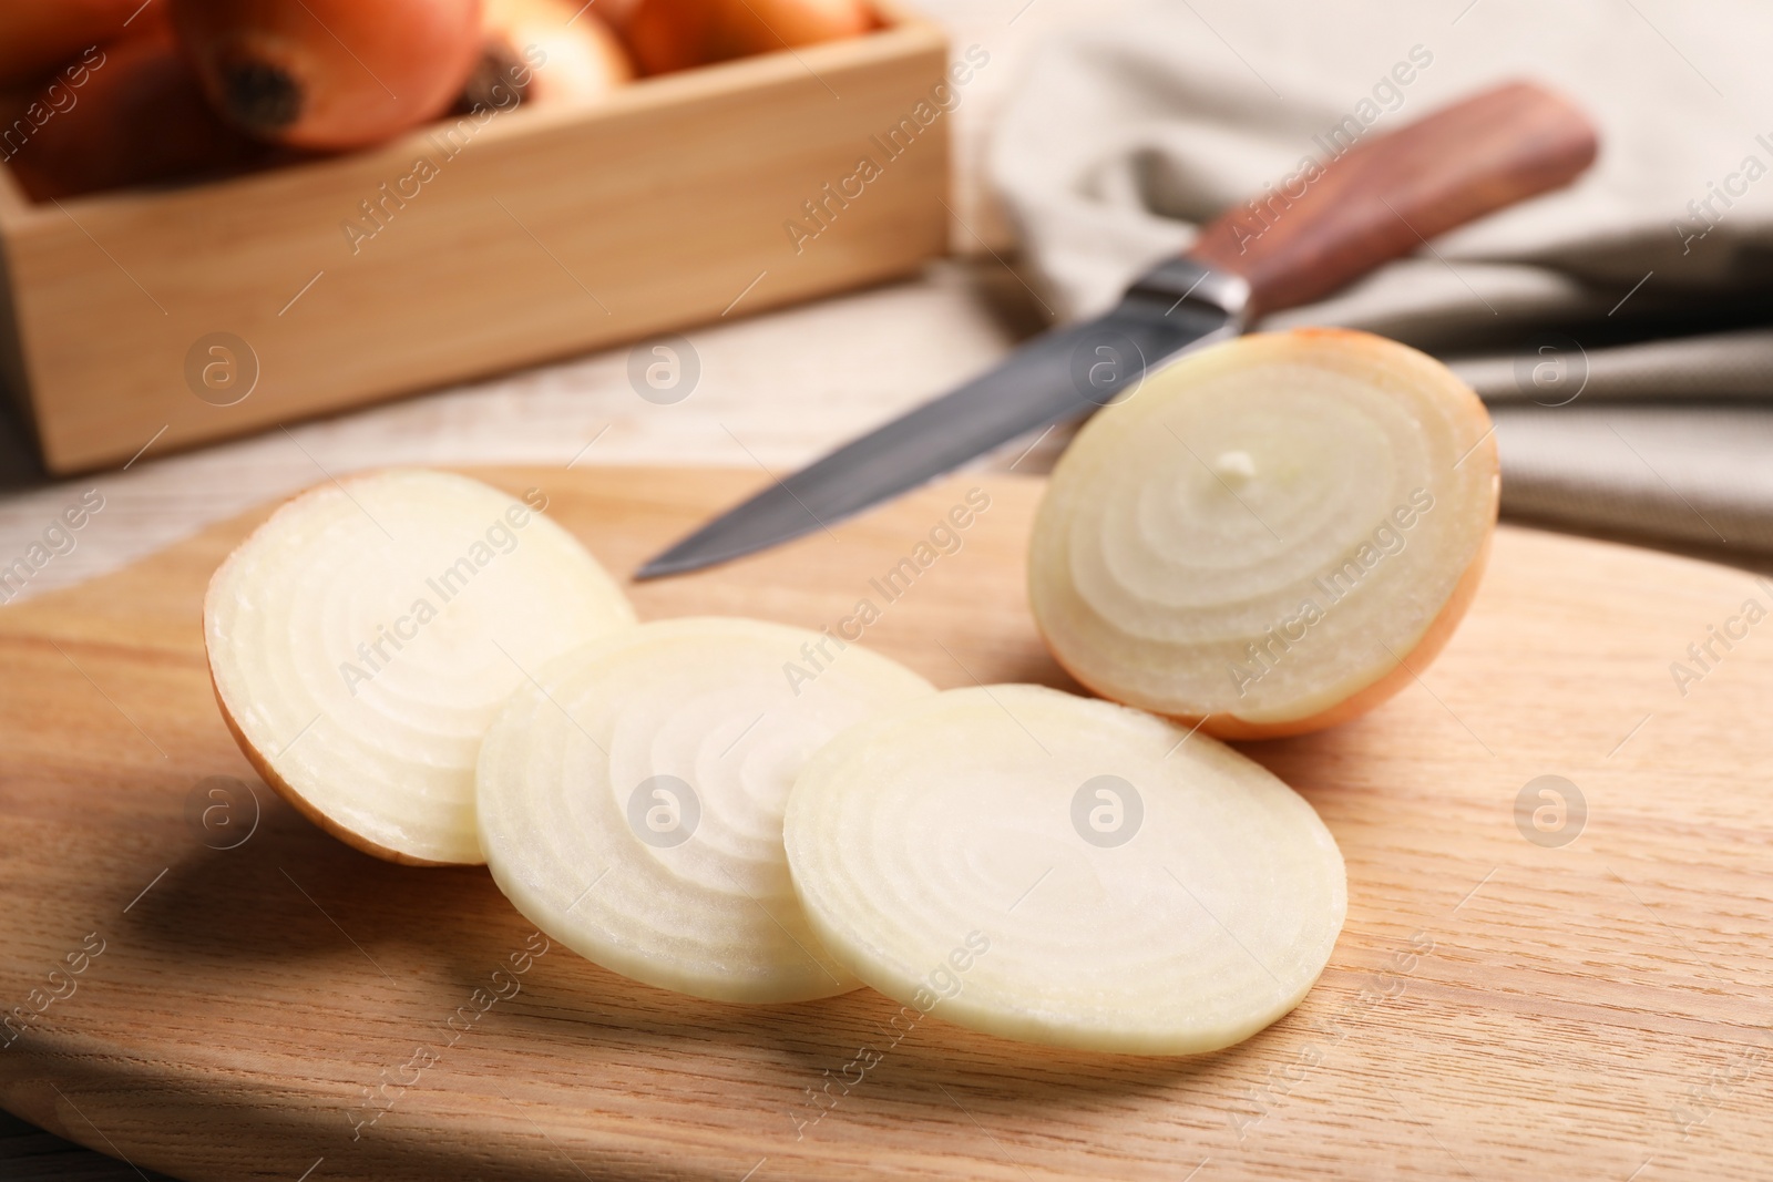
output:
M378 858L482 861L473 762L498 705L635 620L544 505L387 471L303 493L241 542L209 581L204 642L264 782Z

